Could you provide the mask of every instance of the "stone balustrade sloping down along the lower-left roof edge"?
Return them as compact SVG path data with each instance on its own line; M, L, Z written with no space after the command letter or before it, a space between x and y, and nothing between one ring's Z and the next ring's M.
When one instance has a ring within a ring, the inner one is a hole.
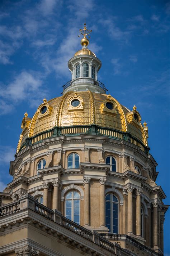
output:
M30 196L29 194L25 194L17 201L0 206L0 223L3 223L3 218L5 218L5 216L10 214L17 214L17 212L24 210L32 210L37 214L42 215L43 217L80 235L81 237L84 237L89 241L98 244L110 252L115 252L115 245L109 242L107 239L101 237L98 232L91 232L88 229L76 224L75 222L62 216L62 214L56 209L51 210L41 203L38 203L34 197Z

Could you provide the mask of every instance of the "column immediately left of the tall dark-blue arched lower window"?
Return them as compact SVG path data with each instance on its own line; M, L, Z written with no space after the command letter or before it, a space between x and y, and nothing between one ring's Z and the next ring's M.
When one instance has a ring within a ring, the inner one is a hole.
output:
M105 183L106 178L99 180L100 183L100 227L105 227Z

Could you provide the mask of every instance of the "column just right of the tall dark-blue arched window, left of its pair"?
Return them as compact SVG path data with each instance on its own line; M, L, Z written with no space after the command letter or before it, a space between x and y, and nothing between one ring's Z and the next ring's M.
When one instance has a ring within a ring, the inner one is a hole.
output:
M127 212L127 235L133 234L133 201L132 201L132 192L133 187L128 186L126 188L128 192L128 212Z

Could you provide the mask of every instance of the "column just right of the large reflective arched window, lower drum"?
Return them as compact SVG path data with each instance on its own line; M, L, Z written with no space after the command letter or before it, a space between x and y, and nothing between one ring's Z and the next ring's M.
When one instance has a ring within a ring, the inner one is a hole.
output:
M90 178L84 177L84 226L90 226Z

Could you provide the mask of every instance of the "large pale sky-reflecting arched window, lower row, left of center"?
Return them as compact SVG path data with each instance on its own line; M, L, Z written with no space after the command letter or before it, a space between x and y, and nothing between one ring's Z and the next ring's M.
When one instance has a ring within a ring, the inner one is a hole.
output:
M80 225L80 195L76 191L66 194L65 216Z

